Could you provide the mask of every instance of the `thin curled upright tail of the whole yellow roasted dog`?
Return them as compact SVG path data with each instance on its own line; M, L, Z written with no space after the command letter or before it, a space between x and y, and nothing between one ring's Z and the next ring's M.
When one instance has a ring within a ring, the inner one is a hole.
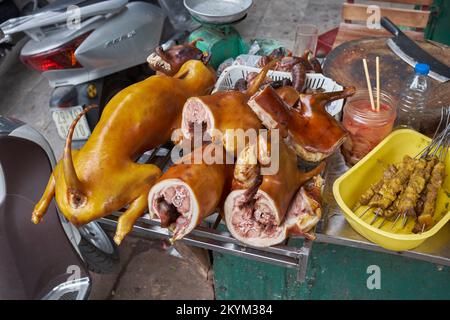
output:
M73 165L72 158L72 137L73 132L75 131L75 127L77 126L78 121L91 109L98 107L97 105L89 105L86 107L80 114L73 120L72 124L69 128L69 133L67 134L66 145L64 146L64 155L63 155L63 171L64 171L64 179L67 185L67 197L70 206L74 209L83 206L87 197L83 193L83 186L81 181L77 177L77 173L75 171L75 166Z

